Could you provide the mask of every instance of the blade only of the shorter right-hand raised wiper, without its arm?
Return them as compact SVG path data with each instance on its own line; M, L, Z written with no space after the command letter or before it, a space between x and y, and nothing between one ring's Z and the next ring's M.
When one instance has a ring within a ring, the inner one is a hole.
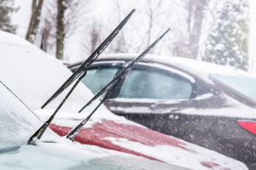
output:
M137 62L139 62L141 59L143 59L143 57L148 54L148 52L151 50L151 48L154 48L154 46L166 35L166 33L170 31L170 28L163 34L161 35L153 44L151 44L144 52L143 54L140 54L136 59L134 59L130 65L128 65L123 71L121 71L116 77L113 78L113 80L111 82L108 82L108 84L102 88L102 90L100 90L92 99L90 99L90 101L84 105L84 107L79 111L79 113L81 111L84 110L85 107L89 106L93 101L95 101L99 96L101 96L104 92L106 92L109 88L111 88L113 86L113 84L115 84L116 82L119 82L120 79L122 77L125 76L125 74L130 71L134 65L137 64Z

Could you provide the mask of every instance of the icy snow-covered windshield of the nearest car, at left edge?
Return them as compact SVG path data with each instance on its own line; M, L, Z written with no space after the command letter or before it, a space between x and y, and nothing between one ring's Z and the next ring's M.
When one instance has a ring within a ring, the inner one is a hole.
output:
M0 82L0 153L26 144L42 123Z

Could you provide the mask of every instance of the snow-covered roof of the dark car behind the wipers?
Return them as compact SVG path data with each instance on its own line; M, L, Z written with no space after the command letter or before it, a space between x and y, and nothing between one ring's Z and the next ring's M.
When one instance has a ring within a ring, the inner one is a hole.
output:
M102 55L97 61L103 60L125 60L131 61L135 59L139 54L108 54ZM224 77L247 77L256 79L256 76L253 74L242 71L241 69L236 69L236 67L232 67L230 65L216 65L206 61L198 60L198 59L188 59L177 56L167 56L167 55L157 55L157 54L147 54L141 62L147 63L158 63L161 65L168 65L176 68L177 70L186 72L190 76L196 77L203 82L207 82L209 84L213 84L212 79L209 77L210 75L218 75ZM73 67L74 65L79 65L82 62L75 63L70 65L69 67Z

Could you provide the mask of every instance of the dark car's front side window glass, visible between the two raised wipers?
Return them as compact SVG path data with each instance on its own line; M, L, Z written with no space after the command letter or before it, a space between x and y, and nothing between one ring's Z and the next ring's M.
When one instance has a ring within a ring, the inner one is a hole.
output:
M86 76L81 80L93 94L97 94L110 82L118 71L117 67L94 68L87 71Z

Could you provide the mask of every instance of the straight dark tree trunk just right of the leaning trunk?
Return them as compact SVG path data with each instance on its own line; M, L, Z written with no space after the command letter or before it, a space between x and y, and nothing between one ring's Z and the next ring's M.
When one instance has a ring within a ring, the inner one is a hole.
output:
M58 0L58 14L57 14L57 28L56 28L56 58L63 59L64 39L65 39L65 26L64 26L64 13L66 6L65 0Z

